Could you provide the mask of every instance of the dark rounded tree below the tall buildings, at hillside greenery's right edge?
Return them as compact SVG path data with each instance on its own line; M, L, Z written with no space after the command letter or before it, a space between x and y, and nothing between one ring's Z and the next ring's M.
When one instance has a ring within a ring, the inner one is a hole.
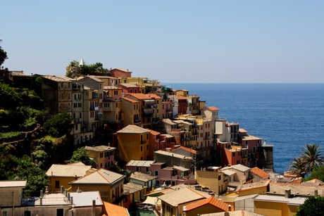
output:
M49 135L55 138L68 135L73 128L72 117L65 112L52 115L49 120L44 122L43 127Z

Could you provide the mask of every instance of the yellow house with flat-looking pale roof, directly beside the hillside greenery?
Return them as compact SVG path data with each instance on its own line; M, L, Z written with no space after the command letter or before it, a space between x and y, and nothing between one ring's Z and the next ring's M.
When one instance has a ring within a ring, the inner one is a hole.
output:
M46 175L49 177L49 192L61 191L61 186L68 189L69 182L74 181L80 177L86 175L87 170L90 170L91 166L87 166L81 162L71 163L68 165L54 164L49 167Z

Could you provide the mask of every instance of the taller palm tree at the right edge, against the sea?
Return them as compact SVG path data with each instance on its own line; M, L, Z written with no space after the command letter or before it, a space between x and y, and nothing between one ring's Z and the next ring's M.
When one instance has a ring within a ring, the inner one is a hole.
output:
M311 172L314 168L323 165L323 153L320 145L306 144L306 147L301 150L300 159L306 172Z

